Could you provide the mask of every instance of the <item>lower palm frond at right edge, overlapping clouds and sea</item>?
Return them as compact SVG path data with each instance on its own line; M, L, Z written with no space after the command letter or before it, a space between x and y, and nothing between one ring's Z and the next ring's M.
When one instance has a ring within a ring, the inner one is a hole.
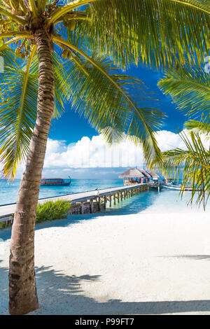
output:
M203 204L204 209L210 196L210 144L204 147L200 134L190 132L180 133L185 148L175 148L162 153L162 161L153 160L153 167L162 170L167 176L179 179L181 176L181 196L188 193L188 203ZM186 192L186 187L192 190Z

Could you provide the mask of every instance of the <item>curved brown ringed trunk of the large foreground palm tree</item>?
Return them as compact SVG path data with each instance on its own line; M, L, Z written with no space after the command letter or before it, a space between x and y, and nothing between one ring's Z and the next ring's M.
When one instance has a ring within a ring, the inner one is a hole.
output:
M55 106L55 91L49 36L44 30L38 30L34 37L38 53L37 118L22 174L12 229L10 314L27 314L38 308L34 272L34 228L45 148Z

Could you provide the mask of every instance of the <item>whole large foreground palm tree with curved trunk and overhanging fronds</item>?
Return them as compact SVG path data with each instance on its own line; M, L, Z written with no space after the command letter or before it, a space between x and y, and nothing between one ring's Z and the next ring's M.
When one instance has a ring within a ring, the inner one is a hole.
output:
M201 49L209 48L209 13L209 2L196 0L0 1L5 176L13 177L27 158L11 237L10 314L38 307L34 223L55 107L59 112L69 99L107 141L113 129L117 137L124 131L142 141L150 161L159 153L154 131L162 113L141 108L141 82L120 74L108 59L125 69L130 62L160 67L184 62L186 52L200 58Z

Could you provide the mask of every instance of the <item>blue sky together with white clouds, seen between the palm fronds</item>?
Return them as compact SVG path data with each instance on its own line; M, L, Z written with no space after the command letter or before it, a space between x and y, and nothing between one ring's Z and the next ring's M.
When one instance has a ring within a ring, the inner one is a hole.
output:
M157 139L161 150L182 147L176 130L182 130L185 118L172 104L172 99L162 94L157 87L162 73L144 67L132 67L126 73L144 81L155 92L155 98L159 99L158 107L167 114ZM52 120L44 177L66 177L70 174L73 179L118 179L127 167L142 167L143 164L141 148L136 149L123 141L110 149L97 131L78 113L74 113L68 104L62 118ZM18 178L21 172L22 168L18 171Z

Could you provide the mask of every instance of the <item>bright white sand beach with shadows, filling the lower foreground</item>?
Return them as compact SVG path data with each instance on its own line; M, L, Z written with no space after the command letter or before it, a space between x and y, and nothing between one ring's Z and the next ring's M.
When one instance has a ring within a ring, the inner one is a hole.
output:
M0 232L0 314L9 235ZM38 225L36 276L40 309L31 314L210 314L210 213L94 214Z

